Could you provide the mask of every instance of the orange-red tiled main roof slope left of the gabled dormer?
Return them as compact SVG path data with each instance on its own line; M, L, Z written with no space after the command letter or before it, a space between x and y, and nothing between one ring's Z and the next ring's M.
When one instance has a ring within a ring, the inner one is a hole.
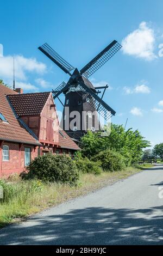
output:
M21 119L16 118L14 109L8 101L8 94L17 95L17 93L0 84L0 112L3 114L7 122L0 121L0 139L2 141L12 141L40 145L37 139L32 135L30 129L23 125ZM30 133L31 132L31 133Z

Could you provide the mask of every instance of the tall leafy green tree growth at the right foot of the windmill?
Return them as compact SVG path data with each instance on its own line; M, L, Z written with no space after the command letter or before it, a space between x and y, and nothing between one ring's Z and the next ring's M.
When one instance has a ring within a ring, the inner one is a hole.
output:
M101 137L101 133L87 132L82 137L82 155L93 157L99 152L107 149L116 150L128 159L128 163L137 162L141 159L143 149L150 146L138 130L131 128L125 131L122 125L111 124L109 136Z

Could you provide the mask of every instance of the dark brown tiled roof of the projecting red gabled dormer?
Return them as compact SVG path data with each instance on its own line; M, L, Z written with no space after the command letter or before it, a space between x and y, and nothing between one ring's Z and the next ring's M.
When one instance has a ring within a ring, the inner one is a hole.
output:
M17 115L39 115L51 92L10 94L9 100Z

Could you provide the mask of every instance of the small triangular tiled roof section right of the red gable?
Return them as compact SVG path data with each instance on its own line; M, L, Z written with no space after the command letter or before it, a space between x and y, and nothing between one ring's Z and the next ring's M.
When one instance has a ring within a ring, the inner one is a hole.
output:
M61 128L59 130L59 145L61 148L80 150L79 146Z

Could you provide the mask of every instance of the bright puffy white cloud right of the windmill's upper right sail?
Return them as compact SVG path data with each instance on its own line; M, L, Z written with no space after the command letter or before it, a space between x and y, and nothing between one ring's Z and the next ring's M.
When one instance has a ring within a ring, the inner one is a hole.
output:
M122 40L122 51L128 55L152 60L154 54L155 35L146 22L141 22L139 28L131 32Z

